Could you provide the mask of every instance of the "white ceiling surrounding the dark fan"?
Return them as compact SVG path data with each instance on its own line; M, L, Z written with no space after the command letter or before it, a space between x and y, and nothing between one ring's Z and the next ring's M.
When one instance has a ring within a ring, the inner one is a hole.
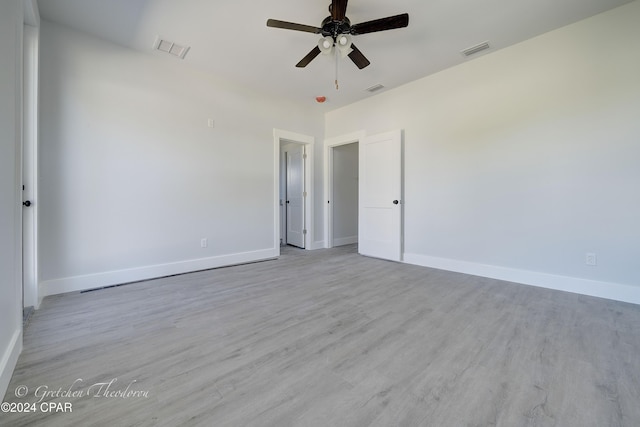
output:
M94 34L167 61L152 50L157 36L191 50L185 65L209 70L250 89L333 109L436 73L491 51L630 3L631 0L351 0L352 24L409 13L407 28L354 37L371 61L358 70L339 62L340 89L334 86L333 57L319 56L295 68L319 36L268 28L274 18L320 26L330 0L39 0L43 19ZM460 51L489 41L491 50L471 58Z

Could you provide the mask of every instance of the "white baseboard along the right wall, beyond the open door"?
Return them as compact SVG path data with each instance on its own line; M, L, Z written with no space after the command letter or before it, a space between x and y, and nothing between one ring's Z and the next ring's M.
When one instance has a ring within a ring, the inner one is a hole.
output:
M477 264L447 258L425 255L404 254L404 262L440 270L455 271L474 276L489 277L524 285L555 289L593 297L640 304L640 287L620 283L600 282L576 277L557 276L535 271L498 267L495 265Z

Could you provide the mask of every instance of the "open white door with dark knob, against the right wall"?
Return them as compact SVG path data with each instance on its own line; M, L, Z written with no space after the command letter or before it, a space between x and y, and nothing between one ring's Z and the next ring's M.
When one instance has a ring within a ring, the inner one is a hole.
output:
M360 141L358 252L402 260L402 134Z

